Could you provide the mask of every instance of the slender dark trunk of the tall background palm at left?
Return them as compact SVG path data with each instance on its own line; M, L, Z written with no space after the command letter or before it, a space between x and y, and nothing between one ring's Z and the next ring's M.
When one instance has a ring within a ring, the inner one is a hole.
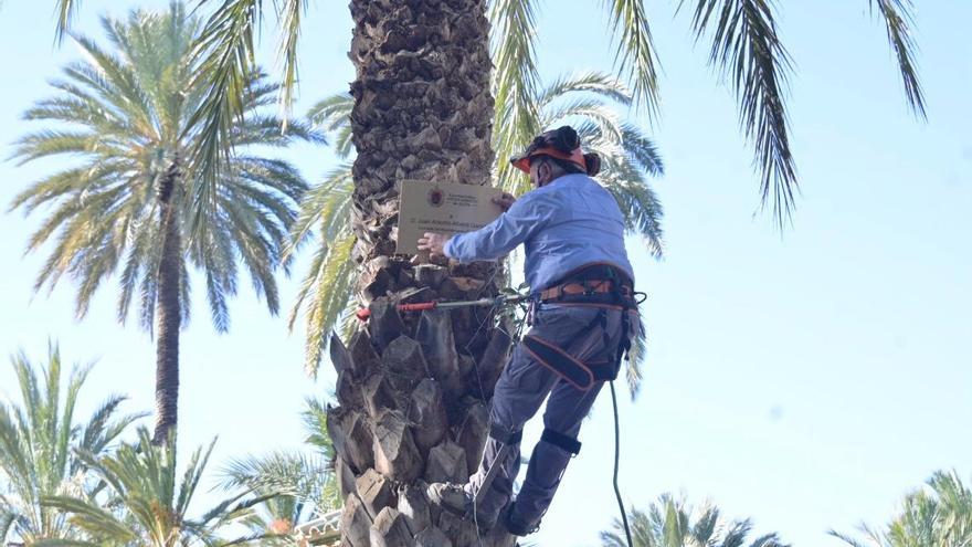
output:
M156 425L152 442L165 443L176 427L179 401L179 330L182 323L180 297L182 235L179 211L172 194L181 177L176 158L159 185L159 222L162 255L159 260L156 307Z

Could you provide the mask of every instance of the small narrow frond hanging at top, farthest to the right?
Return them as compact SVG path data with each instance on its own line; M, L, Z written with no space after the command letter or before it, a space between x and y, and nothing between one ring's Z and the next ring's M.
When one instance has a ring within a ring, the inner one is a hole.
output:
M921 91L921 82L918 78L918 67L915 63L918 46L911 35L911 27L915 24L912 12L915 10L911 0L868 0L871 12L877 7L877 12L884 20L888 32L888 42L895 52L898 70L901 73L901 82L905 84L905 94L912 112L922 119L927 119L925 112L925 94Z

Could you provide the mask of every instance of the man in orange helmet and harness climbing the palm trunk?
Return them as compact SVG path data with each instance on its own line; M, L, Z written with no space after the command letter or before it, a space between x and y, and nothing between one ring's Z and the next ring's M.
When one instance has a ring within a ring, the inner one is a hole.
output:
M591 177L600 158L583 154L564 126L537 137L513 165L533 190L475 232L426 233L419 249L461 262L496 260L524 243L532 295L532 329L496 385L489 440L479 470L461 486L436 483L429 495L490 528L503 513L515 535L535 532L567 463L578 454L581 421L605 380L617 375L637 322L634 272L624 249L624 218L611 193ZM545 430L515 502L522 428L547 396Z

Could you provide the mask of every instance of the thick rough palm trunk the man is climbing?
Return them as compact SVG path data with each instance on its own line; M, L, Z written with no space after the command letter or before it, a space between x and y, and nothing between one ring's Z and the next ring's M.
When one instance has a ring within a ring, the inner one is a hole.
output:
M345 495L345 546L477 545L421 481L465 482L482 456L489 393L510 339L482 311L400 315L393 304L496 295L496 269L394 256L397 183L489 182L493 98L485 0L352 0L351 127L357 296L372 315L331 340L339 407L328 431ZM486 537L483 545L509 544Z

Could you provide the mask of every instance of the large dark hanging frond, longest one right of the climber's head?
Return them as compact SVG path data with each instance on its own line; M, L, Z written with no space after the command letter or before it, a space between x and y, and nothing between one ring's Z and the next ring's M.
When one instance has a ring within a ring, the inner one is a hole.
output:
M686 0L679 1L679 8ZM742 132L756 150L760 199L778 227L791 219L799 191L790 149L786 80L790 55L776 35L772 0L695 0L697 39L711 34L709 63L722 71L739 101Z

